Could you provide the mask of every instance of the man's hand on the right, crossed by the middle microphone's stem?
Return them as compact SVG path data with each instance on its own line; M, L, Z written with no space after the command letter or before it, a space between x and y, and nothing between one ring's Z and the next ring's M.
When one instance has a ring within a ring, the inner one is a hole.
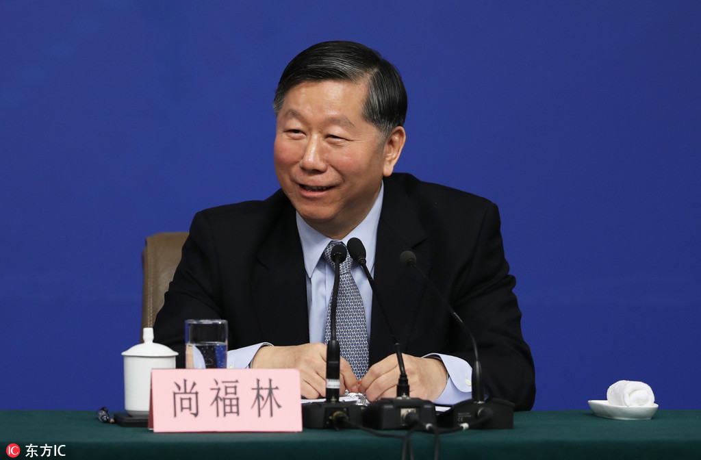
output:
M435 358L416 358L402 353L404 368L409 378L409 395L411 398L436 400L448 381L448 371L443 362ZM399 365L397 356L390 355L375 363L360 381L360 392L364 392L369 401L379 398L395 398Z

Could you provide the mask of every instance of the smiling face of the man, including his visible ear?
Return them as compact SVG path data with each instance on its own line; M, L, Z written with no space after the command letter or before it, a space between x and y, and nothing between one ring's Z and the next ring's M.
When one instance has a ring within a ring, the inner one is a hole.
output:
M278 113L275 174L304 221L329 238L365 219L404 145L403 128L385 140L362 118L366 95L367 83L300 83Z

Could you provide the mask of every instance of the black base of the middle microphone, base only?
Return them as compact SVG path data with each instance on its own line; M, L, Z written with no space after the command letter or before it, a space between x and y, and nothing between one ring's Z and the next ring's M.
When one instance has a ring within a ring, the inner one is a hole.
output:
M414 417L407 419L408 414L416 414L420 424L436 424L435 405L430 401L418 398L382 398L373 401L362 412L362 424L366 428L376 430L400 430L414 426Z

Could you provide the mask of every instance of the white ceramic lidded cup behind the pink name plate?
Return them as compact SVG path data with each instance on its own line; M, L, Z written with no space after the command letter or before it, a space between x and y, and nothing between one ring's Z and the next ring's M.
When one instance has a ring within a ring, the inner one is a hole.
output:
M175 356L165 345L154 344L153 327L144 327L144 343L132 346L124 356L124 408L132 417L149 417L151 370L175 369Z

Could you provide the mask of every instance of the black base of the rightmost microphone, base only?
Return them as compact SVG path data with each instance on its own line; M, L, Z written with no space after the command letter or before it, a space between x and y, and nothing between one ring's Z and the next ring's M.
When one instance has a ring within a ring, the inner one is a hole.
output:
M455 428L468 424L477 430L510 430L514 428L514 404L503 399L486 401L468 399L438 415L438 426Z

